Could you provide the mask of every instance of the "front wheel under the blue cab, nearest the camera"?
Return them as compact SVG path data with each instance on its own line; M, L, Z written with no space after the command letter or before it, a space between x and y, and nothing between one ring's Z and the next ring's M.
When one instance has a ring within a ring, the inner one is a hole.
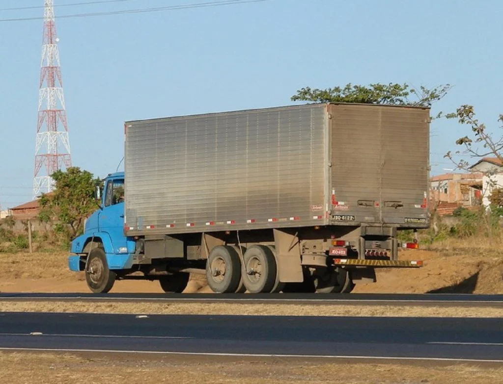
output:
M110 271L102 248L94 248L89 252L86 264L86 283L94 293L107 293L115 283L115 272Z

